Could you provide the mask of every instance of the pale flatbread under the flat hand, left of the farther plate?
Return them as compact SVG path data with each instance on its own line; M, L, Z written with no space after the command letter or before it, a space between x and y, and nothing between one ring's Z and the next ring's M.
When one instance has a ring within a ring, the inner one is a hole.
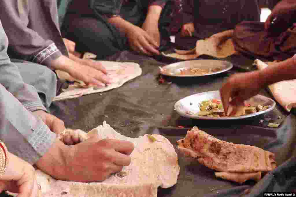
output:
M57 71L57 75L61 79L66 79L68 81L75 81L73 85L69 85L67 89L63 89L63 92L54 97L53 101L65 100L80 97L82 95L89 95L97 92L105 92L110 89L118 88L124 83L131 79L140 76L142 69L139 64L133 62L114 62L114 61L100 61L107 69L110 77L117 79L117 82L109 84L106 87L92 87L86 86L83 82L73 79L68 73L64 71Z

